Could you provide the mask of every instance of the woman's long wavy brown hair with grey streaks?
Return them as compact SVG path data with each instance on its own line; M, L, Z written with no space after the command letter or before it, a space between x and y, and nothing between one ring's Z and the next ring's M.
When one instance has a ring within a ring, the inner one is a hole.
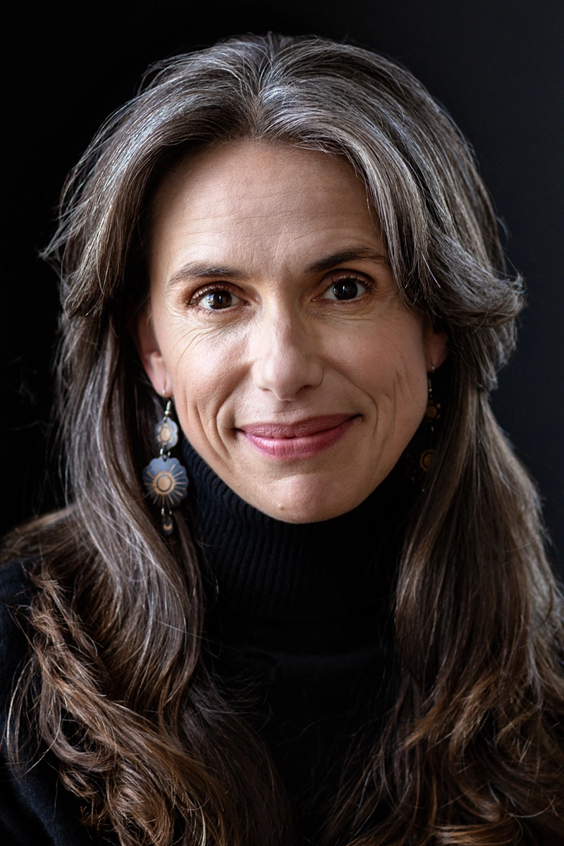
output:
M489 404L522 280L507 274L489 197L444 110L397 64L320 39L249 36L157 64L68 179L46 251L63 302L68 505L8 543L35 562L10 755L35 733L85 822L121 846L292 843L269 755L206 668L189 525L163 537L145 502L160 400L129 333L147 297L159 179L191 150L243 139L350 162L399 294L445 333L450 359L441 441L398 564L397 696L319 843L559 838L561 600L534 485Z

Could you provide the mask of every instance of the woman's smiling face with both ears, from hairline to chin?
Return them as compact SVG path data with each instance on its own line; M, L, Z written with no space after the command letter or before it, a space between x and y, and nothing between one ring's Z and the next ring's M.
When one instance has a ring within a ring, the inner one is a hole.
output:
M156 192L149 270L145 371L233 491L309 523L386 478L445 342L402 304L347 163L255 141L189 158Z

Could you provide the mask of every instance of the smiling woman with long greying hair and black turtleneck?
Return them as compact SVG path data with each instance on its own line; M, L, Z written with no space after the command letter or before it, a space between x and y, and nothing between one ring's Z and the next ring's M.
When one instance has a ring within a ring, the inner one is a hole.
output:
M561 842L561 604L488 402L522 285L422 86L277 36L162 63L47 255L68 507L2 571L14 842Z

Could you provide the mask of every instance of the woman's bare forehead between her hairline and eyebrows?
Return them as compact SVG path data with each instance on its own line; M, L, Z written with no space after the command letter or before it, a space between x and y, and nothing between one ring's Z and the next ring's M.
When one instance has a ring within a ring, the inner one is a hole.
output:
M341 158L294 146L241 141L202 151L167 174L152 206L153 255L315 251L351 238L380 240L364 183Z

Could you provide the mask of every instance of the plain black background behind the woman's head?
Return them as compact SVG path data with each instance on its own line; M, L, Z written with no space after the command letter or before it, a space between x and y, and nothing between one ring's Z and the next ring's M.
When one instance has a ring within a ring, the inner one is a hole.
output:
M564 286L561 0L274 0L50 3L4 26L0 530L52 506L45 481L57 284L37 257L63 179L147 65L224 36L267 30L375 47L406 64L474 146L528 309L494 408L539 483L557 562L564 552ZM6 21L4 20L4 23Z

